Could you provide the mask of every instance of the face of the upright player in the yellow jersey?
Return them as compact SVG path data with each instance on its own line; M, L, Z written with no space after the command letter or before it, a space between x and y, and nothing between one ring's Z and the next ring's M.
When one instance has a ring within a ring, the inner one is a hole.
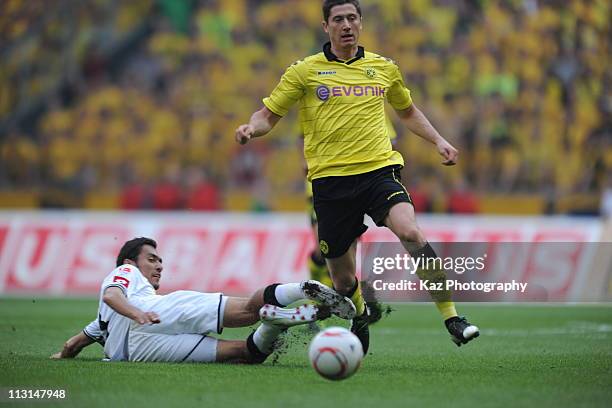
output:
M362 28L361 16L353 4L332 7L329 19L323 22L323 29L334 48L357 46Z

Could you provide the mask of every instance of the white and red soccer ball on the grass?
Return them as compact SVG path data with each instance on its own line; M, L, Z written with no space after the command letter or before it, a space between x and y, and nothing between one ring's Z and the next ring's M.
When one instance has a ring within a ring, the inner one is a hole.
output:
M343 327L329 327L318 333L308 350L310 364L328 380L343 380L355 374L363 359L361 342Z

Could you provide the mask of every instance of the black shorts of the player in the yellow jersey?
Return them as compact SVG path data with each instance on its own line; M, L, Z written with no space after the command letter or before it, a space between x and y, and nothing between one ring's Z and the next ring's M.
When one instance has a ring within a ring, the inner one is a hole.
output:
M410 203L401 183L401 166L388 166L353 176L322 177L312 181L314 209L319 221L319 246L326 258L337 258L368 227L368 214L378 226L398 203Z

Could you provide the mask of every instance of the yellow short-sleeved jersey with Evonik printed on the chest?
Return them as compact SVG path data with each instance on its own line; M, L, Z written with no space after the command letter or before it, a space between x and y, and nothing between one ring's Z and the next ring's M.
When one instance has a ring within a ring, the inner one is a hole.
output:
M341 61L327 43L323 52L291 65L263 103L285 116L299 102L308 180L313 180L404 164L389 139L385 99L397 110L412 105L392 60L359 47L353 59Z

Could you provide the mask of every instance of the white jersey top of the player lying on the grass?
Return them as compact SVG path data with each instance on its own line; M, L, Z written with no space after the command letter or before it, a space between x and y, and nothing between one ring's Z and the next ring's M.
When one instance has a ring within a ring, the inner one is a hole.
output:
M102 282L97 325L90 323L84 333L104 344L104 354L107 358L127 360L127 337L131 319L115 312L102 300L104 291L110 287L121 289L128 299L155 296L155 289L136 266L129 264L119 266Z

